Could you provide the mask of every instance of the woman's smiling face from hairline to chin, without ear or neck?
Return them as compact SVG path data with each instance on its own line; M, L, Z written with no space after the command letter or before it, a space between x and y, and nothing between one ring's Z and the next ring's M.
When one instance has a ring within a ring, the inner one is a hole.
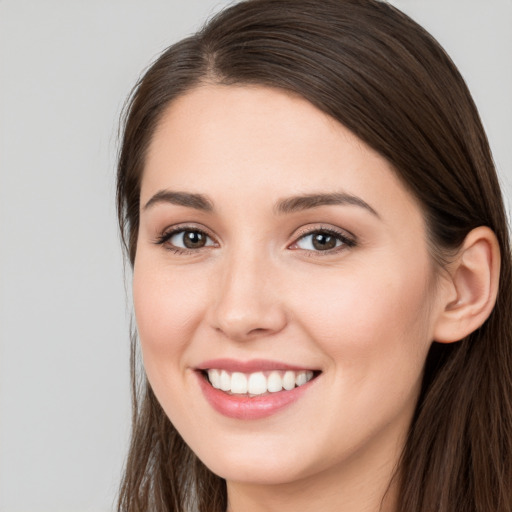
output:
M209 85L166 111L142 177L137 326L163 409L228 482L396 462L436 282L391 166L305 100Z

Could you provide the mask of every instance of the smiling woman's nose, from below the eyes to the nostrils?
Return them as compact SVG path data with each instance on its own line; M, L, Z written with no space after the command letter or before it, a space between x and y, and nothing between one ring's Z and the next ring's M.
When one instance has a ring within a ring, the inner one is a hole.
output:
M211 325L223 336L246 341L280 332L287 324L279 275L257 254L233 255L215 279Z

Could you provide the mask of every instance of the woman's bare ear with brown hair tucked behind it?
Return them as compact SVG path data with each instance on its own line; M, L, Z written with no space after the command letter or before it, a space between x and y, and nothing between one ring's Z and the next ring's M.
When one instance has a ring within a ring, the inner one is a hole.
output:
M500 249L494 232L485 226L470 231L447 271L441 293L444 302L434 326L434 340L440 343L461 340L491 314L500 274Z

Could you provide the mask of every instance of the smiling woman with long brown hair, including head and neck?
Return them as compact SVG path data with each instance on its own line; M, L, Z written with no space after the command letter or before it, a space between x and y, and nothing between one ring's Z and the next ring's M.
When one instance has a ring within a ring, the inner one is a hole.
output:
M145 376L119 510L512 510L507 222L439 45L250 0L137 85L118 167Z

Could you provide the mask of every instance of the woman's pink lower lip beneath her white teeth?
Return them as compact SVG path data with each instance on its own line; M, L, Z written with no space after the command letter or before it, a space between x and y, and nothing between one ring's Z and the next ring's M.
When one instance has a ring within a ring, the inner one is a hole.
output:
M197 372L201 390L210 405L220 414L238 420L266 418L293 404L310 388L312 379L290 391L278 391L260 396L229 395L214 388L201 372Z

